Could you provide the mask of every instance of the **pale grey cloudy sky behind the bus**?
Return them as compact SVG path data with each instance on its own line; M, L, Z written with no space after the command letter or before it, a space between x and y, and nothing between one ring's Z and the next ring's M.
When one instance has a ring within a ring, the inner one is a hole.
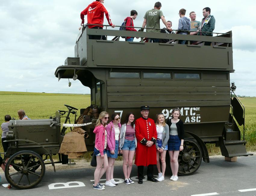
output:
M67 56L74 56L74 45L81 23L80 12L92 1L17 0L0 4L0 62L2 85L0 91L28 91L55 93L90 93L80 81L68 87L67 79L58 79L54 71L64 64ZM135 9L135 26L142 26L145 11L156 1L105 0L105 7L116 25ZM235 73L230 74L239 95L256 96L256 20L251 1L170 1L163 0L161 10L167 20L178 26L181 8L195 11L202 19L202 8L210 7L216 19L214 32L233 32L233 62ZM86 18L85 18L86 21ZM104 20L107 24L106 19ZM161 24L161 27L164 27ZM117 29L117 28L116 28Z

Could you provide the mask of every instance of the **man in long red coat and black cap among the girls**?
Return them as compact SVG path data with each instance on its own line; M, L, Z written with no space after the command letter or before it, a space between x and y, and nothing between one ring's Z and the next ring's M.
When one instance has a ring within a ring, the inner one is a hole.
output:
M147 166L148 180L158 182L153 178L153 165L156 164L156 126L153 119L148 118L149 107L140 107L142 117L135 121L135 135L137 148L135 164L138 166L138 183L142 184L143 168Z

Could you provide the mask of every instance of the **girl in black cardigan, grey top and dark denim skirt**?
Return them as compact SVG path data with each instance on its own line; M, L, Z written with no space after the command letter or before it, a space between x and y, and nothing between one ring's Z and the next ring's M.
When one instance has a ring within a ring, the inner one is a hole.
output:
M178 156L180 151L183 150L184 142L184 125L180 120L180 109L174 108L172 111L172 118L167 122L170 127L170 138L168 140L168 152L170 155L170 166L172 170L172 176L170 180L178 180Z

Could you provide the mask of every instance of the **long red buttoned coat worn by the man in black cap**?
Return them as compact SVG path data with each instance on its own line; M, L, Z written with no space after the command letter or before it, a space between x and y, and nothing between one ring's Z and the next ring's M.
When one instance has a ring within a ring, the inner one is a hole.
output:
M153 119L139 118L135 121L135 135L137 138L137 148L135 164L137 166L148 166L156 164L156 126ZM154 144L151 147L146 146L147 141Z

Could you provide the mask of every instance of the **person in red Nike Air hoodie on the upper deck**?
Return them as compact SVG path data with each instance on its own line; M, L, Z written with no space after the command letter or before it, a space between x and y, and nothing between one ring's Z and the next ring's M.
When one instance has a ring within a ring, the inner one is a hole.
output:
M95 2L92 2L90 5L85 8L81 14L80 17L82 19L81 26L84 24L84 15L87 15L87 24L95 24L95 25L88 25L89 29L103 29L103 22L104 22L104 13L106 15L106 18L108 20L108 24L111 25L112 28L115 27L114 24L112 24L109 13L105 6L103 5L104 0L96 0ZM104 36L105 37L105 36ZM101 35L91 35L89 36L89 39L104 39ZM105 38L106 39L106 38Z

